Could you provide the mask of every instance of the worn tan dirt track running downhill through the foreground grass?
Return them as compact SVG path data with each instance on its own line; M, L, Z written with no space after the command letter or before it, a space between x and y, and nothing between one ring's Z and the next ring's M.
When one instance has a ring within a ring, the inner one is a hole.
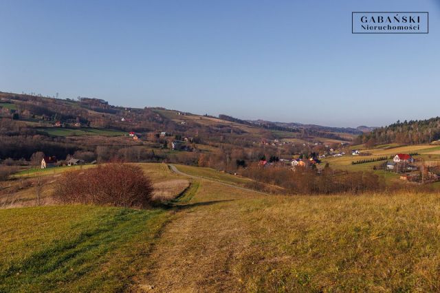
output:
M177 171L178 172L178 171ZM238 186L198 180L197 193L179 204L138 280L137 292L237 292L240 255L250 246L239 202L255 197Z

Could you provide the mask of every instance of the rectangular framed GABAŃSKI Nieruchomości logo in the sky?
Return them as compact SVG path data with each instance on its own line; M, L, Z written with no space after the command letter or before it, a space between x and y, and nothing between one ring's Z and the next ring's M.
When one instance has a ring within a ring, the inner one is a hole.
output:
M351 12L352 34L428 34L428 12Z

